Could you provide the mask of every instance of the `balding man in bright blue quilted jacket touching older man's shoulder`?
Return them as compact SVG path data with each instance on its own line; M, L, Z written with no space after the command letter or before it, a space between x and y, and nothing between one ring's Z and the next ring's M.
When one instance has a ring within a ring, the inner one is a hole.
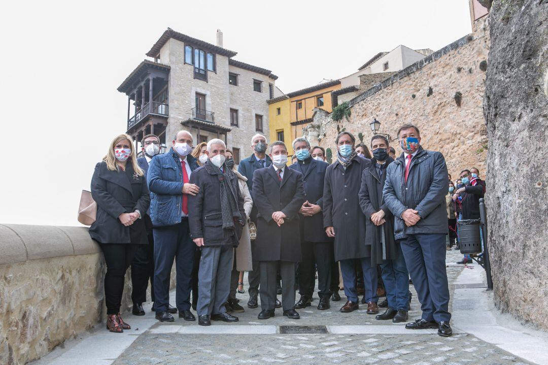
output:
M198 168L192 151L192 135L186 130L175 134L172 149L156 155L149 164L147 180L151 195L150 217L154 235L154 310L156 319L173 322L167 311L169 281L176 262L177 286L175 301L179 317L195 321L190 311L192 261L195 245L189 230L189 195L196 195L198 186L190 184L190 175Z

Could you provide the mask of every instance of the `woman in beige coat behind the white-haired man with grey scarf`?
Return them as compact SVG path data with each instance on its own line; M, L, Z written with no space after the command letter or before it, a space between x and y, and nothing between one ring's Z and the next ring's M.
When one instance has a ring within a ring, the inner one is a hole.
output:
M227 150L225 153L225 164L232 169L232 172L238 176L238 185L240 193L243 197L243 209L246 211L246 225L243 226L242 237L239 239L238 247L236 248L236 254L234 255L234 264L232 266L232 275L230 278L230 294L227 301L227 309L231 309L233 312L243 312L244 309L238 304L236 299L236 289L238 288L240 272L253 270L253 263L251 257L251 241L249 239L249 214L251 214L251 208L253 207L253 201L249 188L247 187L247 178L234 169L234 160L232 158L232 151Z

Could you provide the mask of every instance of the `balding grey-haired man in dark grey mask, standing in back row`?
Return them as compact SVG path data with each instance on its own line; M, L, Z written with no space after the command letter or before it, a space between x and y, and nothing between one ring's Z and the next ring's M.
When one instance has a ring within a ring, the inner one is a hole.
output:
M253 150L253 155L248 158L242 159L238 164L238 172L247 178L247 187L249 188L249 193L251 198L255 202L253 197L253 174L256 169L262 169L269 167L272 164L272 159L270 156L266 155L266 148L268 144L266 142L266 137L262 134L255 134L251 139L251 149ZM251 209L251 214L249 219L257 224L257 207L253 203L253 208ZM259 295L259 283L260 283L260 270L259 270L259 261L255 259L255 245L251 245L251 256L253 260L253 270L247 273L247 279L249 282L249 301L247 306L249 308L256 308L259 306L257 297Z

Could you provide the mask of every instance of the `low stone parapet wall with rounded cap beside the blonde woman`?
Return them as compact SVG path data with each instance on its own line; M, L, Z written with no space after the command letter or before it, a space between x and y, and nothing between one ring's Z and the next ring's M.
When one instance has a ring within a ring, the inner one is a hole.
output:
M86 227L0 224L0 364L27 363L103 326L105 272ZM122 310L131 288L128 271Z

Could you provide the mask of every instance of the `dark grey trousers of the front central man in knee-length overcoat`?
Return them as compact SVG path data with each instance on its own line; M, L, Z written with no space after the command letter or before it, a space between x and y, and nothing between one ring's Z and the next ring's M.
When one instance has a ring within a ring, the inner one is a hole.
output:
M296 263L289 261L261 261L261 309L276 308L276 276L282 276L282 308L284 311L295 309L295 270Z

